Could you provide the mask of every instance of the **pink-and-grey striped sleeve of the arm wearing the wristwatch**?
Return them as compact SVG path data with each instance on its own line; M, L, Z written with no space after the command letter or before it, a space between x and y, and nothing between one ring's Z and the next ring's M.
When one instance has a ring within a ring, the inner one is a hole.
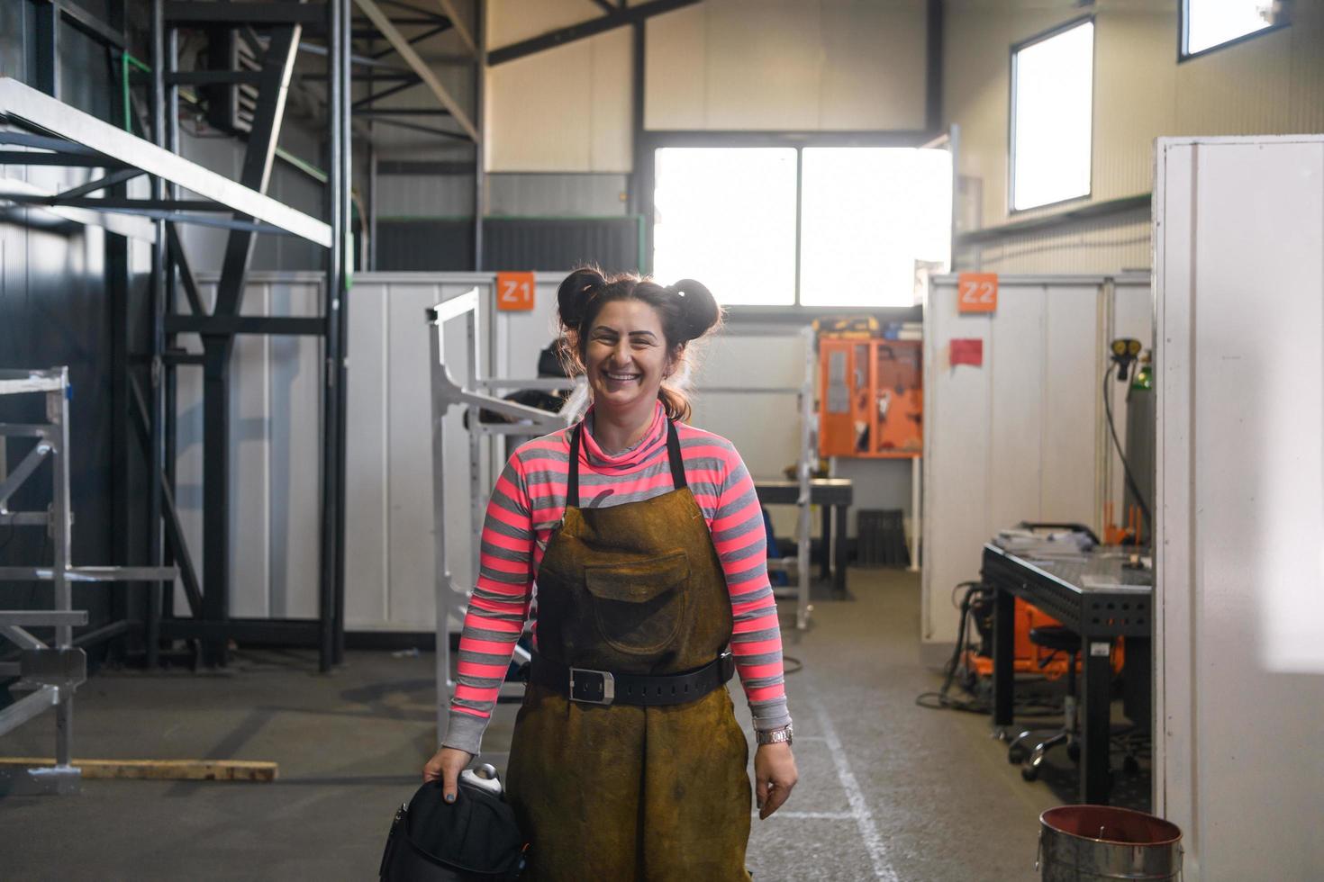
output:
M777 602L768 581L768 537L749 469L730 442L722 452L726 473L715 487L710 529L735 618L731 652L749 701L753 727L767 731L790 722Z

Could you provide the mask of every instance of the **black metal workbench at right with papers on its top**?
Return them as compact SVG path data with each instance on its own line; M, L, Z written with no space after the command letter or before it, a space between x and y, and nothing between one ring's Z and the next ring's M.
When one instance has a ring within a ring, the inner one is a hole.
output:
M1014 598L1039 607L1080 635L1080 801L1108 803L1112 644L1127 637L1127 657L1148 659L1153 573L1123 566L1127 551L1031 555L984 546L984 581L993 586L993 730L1010 730L1016 688Z

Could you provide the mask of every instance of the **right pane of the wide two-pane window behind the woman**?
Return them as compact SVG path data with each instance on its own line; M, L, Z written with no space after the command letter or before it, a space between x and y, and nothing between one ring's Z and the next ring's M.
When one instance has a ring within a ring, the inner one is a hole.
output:
M912 305L916 262L949 259L952 155L806 147L802 218L802 304Z

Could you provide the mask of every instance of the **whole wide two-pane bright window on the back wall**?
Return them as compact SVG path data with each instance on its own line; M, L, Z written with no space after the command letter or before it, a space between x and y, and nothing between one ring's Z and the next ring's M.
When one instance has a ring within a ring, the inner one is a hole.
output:
M654 275L728 305L910 307L949 263L947 149L663 147L655 175Z

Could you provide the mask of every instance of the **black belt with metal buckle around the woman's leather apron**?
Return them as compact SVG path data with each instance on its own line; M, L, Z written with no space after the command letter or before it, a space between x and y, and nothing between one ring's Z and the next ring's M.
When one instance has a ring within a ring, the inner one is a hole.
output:
M534 655L528 681L591 705L683 705L726 685L736 672L730 652L681 674L626 674L572 668Z

